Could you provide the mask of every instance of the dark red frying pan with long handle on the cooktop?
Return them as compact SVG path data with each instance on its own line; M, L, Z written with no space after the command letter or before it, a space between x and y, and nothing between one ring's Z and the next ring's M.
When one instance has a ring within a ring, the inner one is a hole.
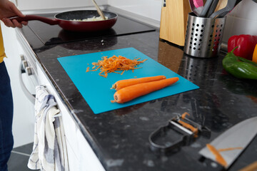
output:
M67 31L102 31L114 26L117 21L118 15L110 11L103 11L104 16L108 19L101 21L72 21L88 19L91 17L98 17L99 14L96 10L79 10L79 11L66 11L54 16L54 19L49 19L43 16L26 15L25 17L13 17L17 21L32 21L38 20L46 24L56 25Z

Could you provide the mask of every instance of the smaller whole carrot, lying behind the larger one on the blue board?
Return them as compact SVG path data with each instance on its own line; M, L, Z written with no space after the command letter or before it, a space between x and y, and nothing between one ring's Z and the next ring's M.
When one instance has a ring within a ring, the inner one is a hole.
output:
M115 90L119 90L124 87L132 86L138 83L147 83L151 81L159 81L162 79L166 79L166 76L152 76L152 77L143 77L143 78L131 78L127 80L121 80L114 83L114 85L111 88L114 88Z

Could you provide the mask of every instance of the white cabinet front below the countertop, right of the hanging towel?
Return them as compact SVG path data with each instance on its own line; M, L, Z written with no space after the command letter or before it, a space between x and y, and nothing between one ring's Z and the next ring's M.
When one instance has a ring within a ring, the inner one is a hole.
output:
M36 68L38 69L39 83L46 86L48 92L54 95L58 108L61 110L70 171L104 171L104 167L91 149L89 142L86 141L74 119L71 118L71 113L66 108L66 105L62 103L56 90L46 78L45 73L41 71L41 66L37 64Z

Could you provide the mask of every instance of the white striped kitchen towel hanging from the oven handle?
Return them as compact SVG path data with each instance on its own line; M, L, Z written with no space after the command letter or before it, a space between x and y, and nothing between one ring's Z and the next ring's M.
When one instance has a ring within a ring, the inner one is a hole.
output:
M69 170L64 128L54 96L44 86L36 86L33 151L29 157L31 170Z

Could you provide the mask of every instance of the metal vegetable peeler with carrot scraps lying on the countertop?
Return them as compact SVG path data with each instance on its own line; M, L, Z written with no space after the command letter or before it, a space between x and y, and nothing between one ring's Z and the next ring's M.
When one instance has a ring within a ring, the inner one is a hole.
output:
M183 113L182 115L176 115L166 125L153 131L148 137L151 150L168 152L170 150L176 150L183 145L189 145L200 134L206 137L211 136L211 130L189 120L186 118L186 115L189 114ZM160 143L159 140L163 140L163 135L168 135L168 131L173 131L172 136L175 139L172 142L171 140L164 140L164 142Z

